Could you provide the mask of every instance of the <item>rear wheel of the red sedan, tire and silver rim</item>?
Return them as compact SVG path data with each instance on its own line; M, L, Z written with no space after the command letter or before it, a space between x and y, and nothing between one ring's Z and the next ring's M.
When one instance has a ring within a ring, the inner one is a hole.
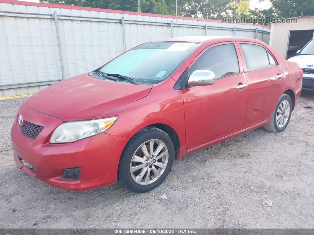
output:
M286 129L292 112L292 101L289 95L282 94L272 115L272 120L264 125L267 131L280 132Z

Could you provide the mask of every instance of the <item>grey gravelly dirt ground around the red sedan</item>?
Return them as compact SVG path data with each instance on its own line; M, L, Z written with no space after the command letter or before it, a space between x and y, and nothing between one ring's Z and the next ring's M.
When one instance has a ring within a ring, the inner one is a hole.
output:
M285 131L259 128L190 154L145 194L68 191L19 170L10 129L26 98L0 99L0 228L314 227L314 95L302 94Z

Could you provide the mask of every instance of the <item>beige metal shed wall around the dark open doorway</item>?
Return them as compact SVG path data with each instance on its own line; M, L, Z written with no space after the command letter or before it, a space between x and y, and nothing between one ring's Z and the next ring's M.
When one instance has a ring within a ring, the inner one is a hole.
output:
M297 17L298 23L273 23L269 45L286 57L290 30L314 29L314 16Z

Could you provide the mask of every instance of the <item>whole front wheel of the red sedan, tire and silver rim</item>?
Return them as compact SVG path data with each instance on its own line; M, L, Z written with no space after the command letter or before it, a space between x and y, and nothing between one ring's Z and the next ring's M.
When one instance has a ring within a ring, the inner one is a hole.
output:
M145 127L130 139L122 152L118 182L133 192L148 192L165 180L173 161L171 138L158 128Z

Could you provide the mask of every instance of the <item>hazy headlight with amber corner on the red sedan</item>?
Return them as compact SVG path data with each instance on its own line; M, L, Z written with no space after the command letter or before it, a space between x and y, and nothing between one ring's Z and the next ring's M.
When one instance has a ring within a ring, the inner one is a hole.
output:
M110 117L64 122L53 131L50 143L74 142L89 136L95 136L106 131L117 119L118 117Z

